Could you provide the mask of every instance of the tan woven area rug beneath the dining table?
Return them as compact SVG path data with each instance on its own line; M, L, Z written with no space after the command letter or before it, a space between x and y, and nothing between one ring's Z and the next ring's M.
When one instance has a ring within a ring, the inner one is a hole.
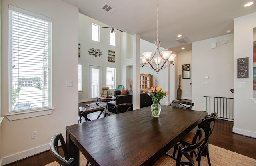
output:
M172 154L173 149L171 149L168 154ZM256 166L256 160L230 150L220 148L209 144L209 156L212 166ZM86 158L80 152L80 165L86 165ZM52 162L46 166L59 166L57 162ZM164 166L164 165L163 165ZM197 166L197 162L196 162ZM208 161L206 157L202 157L201 166L208 166Z

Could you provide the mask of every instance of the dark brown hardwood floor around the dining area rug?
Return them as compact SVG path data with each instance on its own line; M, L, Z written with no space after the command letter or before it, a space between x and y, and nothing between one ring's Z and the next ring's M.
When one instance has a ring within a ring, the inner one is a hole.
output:
M217 119L209 143L256 159L256 138L234 134L232 127L233 122ZM53 161L50 152L46 151L5 166L44 166Z

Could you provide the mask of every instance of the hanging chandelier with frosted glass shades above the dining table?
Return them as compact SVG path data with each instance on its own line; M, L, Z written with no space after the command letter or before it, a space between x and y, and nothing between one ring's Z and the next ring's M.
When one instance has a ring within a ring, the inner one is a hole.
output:
M156 9L156 51L154 55L151 57L152 52L144 52L142 53L144 56L140 57L142 59L142 62L144 63L143 66L147 65L150 69L155 70L156 73L158 73L160 70L165 69L168 65L172 64L174 61L176 55L171 54L172 51L162 51L160 53L159 47L160 47L160 41L158 40L158 0L157 2L157 9ZM153 60L155 61L156 65L153 64ZM143 67L142 66L142 67Z

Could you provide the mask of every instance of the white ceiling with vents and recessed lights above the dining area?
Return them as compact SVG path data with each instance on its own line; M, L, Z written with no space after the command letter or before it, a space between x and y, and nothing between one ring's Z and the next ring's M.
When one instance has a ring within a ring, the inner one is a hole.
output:
M154 43L156 40L156 0L63 0L79 12ZM250 0L159 0L158 38L160 46L174 51L192 49L192 42L227 34L234 29L234 18L256 12L256 4L244 7ZM105 4L116 8L112 14L102 10ZM233 33L232 31L231 33ZM180 44L177 35L190 40Z

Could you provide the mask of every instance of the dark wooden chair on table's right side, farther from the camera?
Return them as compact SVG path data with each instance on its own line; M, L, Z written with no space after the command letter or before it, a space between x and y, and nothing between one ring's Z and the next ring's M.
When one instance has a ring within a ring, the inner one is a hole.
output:
M218 117L218 113L211 113L209 118L203 119L202 123L198 124L198 128L202 128L205 132L205 141L201 146L201 149L198 150L198 166L200 166L200 160L202 156L207 156L208 164L211 166L210 163L210 156L209 156L209 137L212 134L215 121ZM189 146L193 142L193 133L189 132L178 144L182 144L183 146ZM177 150L177 145L174 146L174 150ZM196 155L196 152L193 152ZM173 153L173 156L175 156L175 151Z

